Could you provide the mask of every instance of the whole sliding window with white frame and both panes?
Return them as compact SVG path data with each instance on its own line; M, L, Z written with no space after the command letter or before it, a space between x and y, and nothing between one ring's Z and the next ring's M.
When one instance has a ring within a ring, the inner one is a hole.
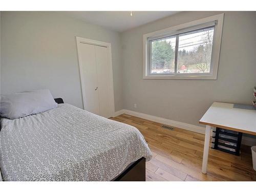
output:
M217 79L223 16L143 35L143 78Z

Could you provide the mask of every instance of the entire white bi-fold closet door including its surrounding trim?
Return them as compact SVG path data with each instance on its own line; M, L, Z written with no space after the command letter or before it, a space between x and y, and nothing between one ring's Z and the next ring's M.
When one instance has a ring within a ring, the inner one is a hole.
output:
M77 37L84 109L109 118L114 112L111 45Z

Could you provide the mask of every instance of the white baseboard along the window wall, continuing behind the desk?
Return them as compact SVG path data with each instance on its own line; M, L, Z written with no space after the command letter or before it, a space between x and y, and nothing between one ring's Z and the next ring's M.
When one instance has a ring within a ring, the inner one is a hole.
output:
M135 116L135 117L155 121L155 122L158 122L158 123L162 123L162 124L166 124L166 125L170 125L170 126L175 126L175 127L180 128L180 129L205 134L205 128L202 127L202 126L183 123L183 122L180 122L180 121L174 121L174 120L170 120L170 119L165 119L165 118L162 118L162 117L156 117L156 116L153 116L153 115L147 115L147 114L144 114L144 113L135 112L135 111L131 111L131 110L122 109L120 111L117 111L117 112L114 113L114 117L122 115L122 114L132 115L132 116ZM242 144L249 145L249 146L256 145L256 139L251 138L251 137L243 136Z

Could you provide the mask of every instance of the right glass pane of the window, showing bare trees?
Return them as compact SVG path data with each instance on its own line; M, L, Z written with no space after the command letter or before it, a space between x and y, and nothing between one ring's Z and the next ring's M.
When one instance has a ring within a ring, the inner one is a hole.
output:
M214 27L179 35L177 73L209 73Z

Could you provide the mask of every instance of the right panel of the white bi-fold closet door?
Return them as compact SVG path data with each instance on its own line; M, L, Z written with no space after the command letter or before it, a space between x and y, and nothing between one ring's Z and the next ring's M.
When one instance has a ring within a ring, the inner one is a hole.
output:
M110 65L108 59L108 48L95 46L98 93L99 93L99 112L106 118L111 117L111 81Z

